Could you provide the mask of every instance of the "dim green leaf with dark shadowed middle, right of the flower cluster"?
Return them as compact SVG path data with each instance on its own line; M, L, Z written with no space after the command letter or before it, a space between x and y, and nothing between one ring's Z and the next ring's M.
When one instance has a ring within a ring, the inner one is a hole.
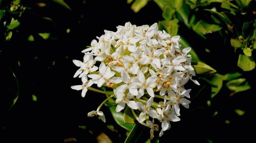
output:
M245 78L239 78L239 79L233 79L226 83L227 88L232 91L230 96L233 96L234 94L238 92L243 92L251 89L248 81L246 81Z

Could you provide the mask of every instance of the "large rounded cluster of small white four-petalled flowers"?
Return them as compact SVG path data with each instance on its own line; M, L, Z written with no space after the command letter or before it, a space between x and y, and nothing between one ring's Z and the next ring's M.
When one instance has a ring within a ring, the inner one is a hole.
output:
M191 90L186 90L184 85L189 79L199 85L192 79L195 71L188 54L191 48L181 49L180 37L158 31L157 23L136 26L126 22L117 26L116 32L105 30L104 33L82 50L82 62L73 60L79 67L74 77L81 78L82 85L71 88L82 90L82 97L88 90L99 91L92 84L112 88L111 98L116 99L117 112L125 106L139 110L138 115L133 112L134 116L151 128L151 138L154 130L159 129L154 120L161 124L161 136L170 128L170 122L180 121L180 105L189 108L190 101L186 98ZM88 116L98 115L105 122L103 112L99 111L102 105Z

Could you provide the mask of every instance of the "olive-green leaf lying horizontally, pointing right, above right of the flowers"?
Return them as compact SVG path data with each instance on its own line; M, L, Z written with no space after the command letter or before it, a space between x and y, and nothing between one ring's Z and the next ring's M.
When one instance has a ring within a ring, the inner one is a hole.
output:
M202 34L208 34L208 33L217 32L217 31L221 30L221 26L216 25L216 24L210 24L210 23L200 20L193 27L193 30L200 32Z

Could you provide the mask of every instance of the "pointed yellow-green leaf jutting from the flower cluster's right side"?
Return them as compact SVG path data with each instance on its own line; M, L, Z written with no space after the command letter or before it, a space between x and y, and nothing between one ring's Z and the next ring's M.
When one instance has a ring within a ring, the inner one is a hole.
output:
M191 62L196 74L211 74L216 73L216 70L202 62Z

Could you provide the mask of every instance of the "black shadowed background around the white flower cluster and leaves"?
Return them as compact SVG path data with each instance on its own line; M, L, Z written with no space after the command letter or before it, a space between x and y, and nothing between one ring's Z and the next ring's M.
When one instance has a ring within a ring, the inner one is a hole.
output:
M11 110L0 116L0 142L63 142L70 137L76 138L77 142L96 142L101 132L113 142L124 142L126 132L113 121L107 107L102 108L106 116L105 124L97 118L87 117L87 113L95 110L104 100L104 95L88 92L82 98L80 91L70 88L81 83L80 79L73 78L77 67L72 60L82 60L83 53L80 51L90 45L96 36L101 36L103 30L116 31L117 25L124 25L127 21L136 25L151 25L163 20L162 11L152 1L139 13L134 13L126 1L66 2L72 11L53 3L47 3L44 8L24 3L31 10L24 13L20 28L11 41L1 43L1 71L4 73L1 73L1 96L12 93L8 87L13 85L8 78L9 67L17 77L19 97ZM38 16L50 17L53 23L40 23ZM67 28L71 30L69 34ZM51 37L28 42L28 36L36 32L50 32ZM214 49L216 46L220 49L218 38L209 39L211 43L216 40L216 45L209 45L182 24L179 33L203 61L221 74L242 72L237 68L238 56L233 49L221 47L224 52ZM211 53L205 52L205 48L212 49ZM254 73L255 70L243 75L252 89ZM249 130L255 129L252 118L255 112L254 92L249 90L230 97L230 92L224 88L211 99L211 106L208 107L209 85L193 98L205 84L203 81L200 83L200 87L188 83L187 87L193 89L190 109L182 108L181 121L172 123L172 128L164 132L160 141L246 142L253 138ZM32 95L37 97L37 101L32 100ZM245 114L238 116L234 109L245 110ZM215 111L218 111L218 115L213 117ZM229 120L230 124L225 124L225 120ZM84 125L85 130L79 128ZM109 125L114 125L115 131L111 131Z

